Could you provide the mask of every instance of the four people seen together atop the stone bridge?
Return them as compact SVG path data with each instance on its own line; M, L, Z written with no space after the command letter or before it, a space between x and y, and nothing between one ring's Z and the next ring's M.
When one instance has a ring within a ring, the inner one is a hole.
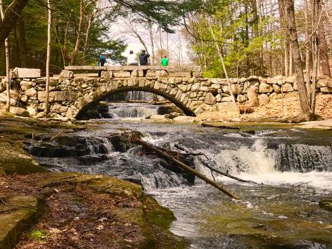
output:
M137 55L133 53L133 50L129 51L129 55L127 56L127 66L148 66L149 63L149 53L147 53L144 49L140 53L137 58ZM169 60L167 55L164 55L163 58L160 59L161 66L168 66ZM111 59L108 58L108 55L100 55L99 66L111 66Z

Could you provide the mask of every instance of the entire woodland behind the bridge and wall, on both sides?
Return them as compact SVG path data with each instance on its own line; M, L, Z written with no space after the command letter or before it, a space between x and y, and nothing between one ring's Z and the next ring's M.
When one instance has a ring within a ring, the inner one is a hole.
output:
M317 77L331 77L328 0L300 0L296 6L294 0L2 2L6 12L0 22L0 44L9 35L7 65L11 67L43 68L47 43L52 43L48 46L52 47L50 63L46 59L46 65L53 68L50 71L64 65L96 64L105 50L121 62L126 45L108 37L107 27L118 17L134 14L133 21L167 33L183 26L192 59L203 66L206 77L226 77L231 84L229 77L296 75L300 105L309 119L315 118ZM48 72L46 66L47 78Z

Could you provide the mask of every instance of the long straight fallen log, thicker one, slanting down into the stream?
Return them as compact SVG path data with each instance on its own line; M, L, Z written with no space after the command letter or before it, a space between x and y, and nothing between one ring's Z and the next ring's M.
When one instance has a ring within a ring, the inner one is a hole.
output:
M184 163L177 160L173 156L170 156L169 154L165 153L164 151L161 151L160 149L154 147L154 145L150 145L149 143L147 143L147 142L145 142L145 141L143 141L139 138L135 138L133 136L129 136L129 139L133 142L136 142L138 145L142 145L142 147L145 147L146 149L149 149L151 151L156 152L156 154L158 154L158 156L171 161L172 163L174 163L178 167L181 167L182 169L184 169L186 172L189 172L190 174L194 174L194 176L197 176L198 178L201 178L203 181L205 181L205 183L208 183L208 184L212 185L213 187L216 187L218 190L220 190L224 194L230 196L232 199L239 200L238 196L236 196L235 194L229 192L228 190L225 190L219 183L216 183L216 182L212 181L210 178L208 178L208 177L204 176L203 174L197 172L195 169L192 169L191 167L185 165Z

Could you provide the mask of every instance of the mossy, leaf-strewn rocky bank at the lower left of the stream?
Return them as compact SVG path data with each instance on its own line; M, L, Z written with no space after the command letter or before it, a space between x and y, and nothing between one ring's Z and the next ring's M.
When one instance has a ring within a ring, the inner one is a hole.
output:
M0 124L1 249L17 242L16 248L185 247L168 230L172 211L139 185L109 176L50 173L23 149L30 136L86 126L16 118Z

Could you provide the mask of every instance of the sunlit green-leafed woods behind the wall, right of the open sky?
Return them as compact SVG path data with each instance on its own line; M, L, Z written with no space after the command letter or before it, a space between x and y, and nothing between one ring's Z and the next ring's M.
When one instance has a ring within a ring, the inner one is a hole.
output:
M210 12L190 13L183 32L190 41L192 59L205 68L206 77L225 77L220 55L231 77L293 75L294 48L282 5L283 1L275 0L221 0ZM315 71L318 65L318 73L329 77L330 15L331 1L295 1L303 66Z

